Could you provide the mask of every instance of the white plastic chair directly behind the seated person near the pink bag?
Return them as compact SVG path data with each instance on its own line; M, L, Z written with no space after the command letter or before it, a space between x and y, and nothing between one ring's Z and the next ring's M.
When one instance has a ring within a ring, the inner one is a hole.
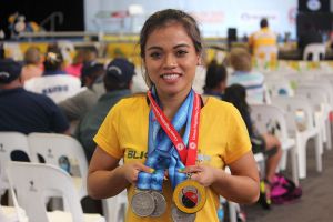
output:
M260 131L260 133L266 133L270 129L269 125L279 125L279 132L276 129L275 135L281 142L283 151L280 162L280 169L285 170L287 151L291 153L292 178L296 185L299 185L297 163L296 163L296 142L295 139L287 134L286 121L283 110L271 104L253 104L251 105L251 118L253 124Z

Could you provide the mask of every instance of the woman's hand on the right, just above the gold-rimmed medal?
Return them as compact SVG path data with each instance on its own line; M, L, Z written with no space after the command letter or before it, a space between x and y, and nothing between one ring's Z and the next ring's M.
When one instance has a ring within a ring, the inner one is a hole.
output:
M185 168L183 173L191 173L191 180L199 182L203 186L210 186L215 182L218 169L210 165L198 164Z

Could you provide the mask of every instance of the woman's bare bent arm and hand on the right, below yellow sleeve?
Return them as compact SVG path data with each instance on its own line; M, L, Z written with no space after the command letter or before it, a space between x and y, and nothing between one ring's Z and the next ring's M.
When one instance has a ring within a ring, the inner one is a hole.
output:
M188 168L193 172L192 180L211 186L216 193L236 203L253 203L259 199L259 172L252 152L229 165L231 174L222 169L208 165Z

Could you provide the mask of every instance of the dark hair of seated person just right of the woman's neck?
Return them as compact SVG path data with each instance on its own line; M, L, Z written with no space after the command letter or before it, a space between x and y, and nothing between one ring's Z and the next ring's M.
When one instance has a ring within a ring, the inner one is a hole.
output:
M203 87L204 91L212 90L216 88L221 82L225 82L226 80L226 70L223 64L218 64L215 60L213 60L206 69L205 74L205 84Z

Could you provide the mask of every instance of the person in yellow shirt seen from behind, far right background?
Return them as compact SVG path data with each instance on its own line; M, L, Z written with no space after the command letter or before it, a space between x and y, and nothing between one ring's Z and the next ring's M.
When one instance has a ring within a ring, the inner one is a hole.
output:
M269 28L266 18L260 20L260 30L250 36L248 43L252 54L256 54L260 47L278 46L276 34Z

